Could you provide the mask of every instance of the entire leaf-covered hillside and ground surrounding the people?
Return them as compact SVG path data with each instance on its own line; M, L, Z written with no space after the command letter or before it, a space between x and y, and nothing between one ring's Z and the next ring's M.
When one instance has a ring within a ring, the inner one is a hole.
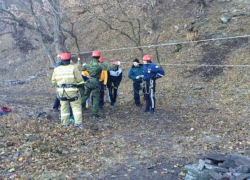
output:
M207 154L250 156L249 2L210 0L202 8L195 0L156 2L160 27L145 16L141 31L143 53L157 62L158 51L166 72L157 81L154 115L133 105L127 73L140 50L89 14L68 7L81 61L99 49L106 63L122 61L123 81L117 109L106 102L98 120L85 111L84 130L62 129L59 114L49 111L53 68L41 47L23 54L10 36L0 37L0 105L12 109L0 116L0 179L184 179L184 165ZM144 17L146 3L126 3ZM198 32L194 41L190 27ZM150 46L158 34L158 46ZM70 37L67 47L77 52Z

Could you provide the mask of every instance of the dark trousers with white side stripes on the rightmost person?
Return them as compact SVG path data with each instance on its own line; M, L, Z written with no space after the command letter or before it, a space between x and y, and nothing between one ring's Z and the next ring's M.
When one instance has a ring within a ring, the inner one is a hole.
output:
M146 101L146 110L155 109L155 80L150 79L146 82L146 87L144 89L144 97Z

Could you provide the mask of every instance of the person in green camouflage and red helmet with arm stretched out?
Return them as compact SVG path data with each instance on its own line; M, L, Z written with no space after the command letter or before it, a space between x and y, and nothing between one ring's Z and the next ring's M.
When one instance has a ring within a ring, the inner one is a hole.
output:
M120 65L120 61L114 61L112 65L105 65L99 62L99 58L101 53L99 51L93 51L92 57L93 59L88 62L87 64L83 64L82 71L89 72L89 79L85 83L85 90L84 95L82 98L82 102L85 102L90 93L92 92L93 95L93 118L99 118L98 115L99 111L99 100L100 100L100 86L99 86L99 79L101 76L102 70L113 70L117 66Z

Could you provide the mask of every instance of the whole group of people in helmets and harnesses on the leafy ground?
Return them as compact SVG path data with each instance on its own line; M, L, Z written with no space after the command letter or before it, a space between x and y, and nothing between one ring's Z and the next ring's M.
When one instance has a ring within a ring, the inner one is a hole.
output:
M70 63L71 55L62 52L57 55L58 62L52 75L52 83L57 86L57 97L54 109L61 106L61 122L64 127L70 126L74 118L74 126L83 128L82 111L88 99L92 99L93 118L99 118L98 111L104 105L104 89L107 87L111 108L116 107L118 87L122 81L120 61L111 65L104 64L99 51L92 52L92 60L78 65ZM143 56L143 64L134 59L128 77L133 80L135 105L140 107L140 91L144 95L146 108L142 113L154 113L156 79L164 75L164 70L152 63L152 56ZM92 97L90 97L92 95Z

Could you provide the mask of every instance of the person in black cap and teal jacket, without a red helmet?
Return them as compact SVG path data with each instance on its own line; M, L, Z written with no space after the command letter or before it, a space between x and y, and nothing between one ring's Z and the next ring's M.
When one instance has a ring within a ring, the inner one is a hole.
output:
M139 59L135 58L133 60L132 67L129 69L128 77L133 80L134 101L137 107L141 106L140 89L142 83L142 75L143 75L143 65L139 63Z

